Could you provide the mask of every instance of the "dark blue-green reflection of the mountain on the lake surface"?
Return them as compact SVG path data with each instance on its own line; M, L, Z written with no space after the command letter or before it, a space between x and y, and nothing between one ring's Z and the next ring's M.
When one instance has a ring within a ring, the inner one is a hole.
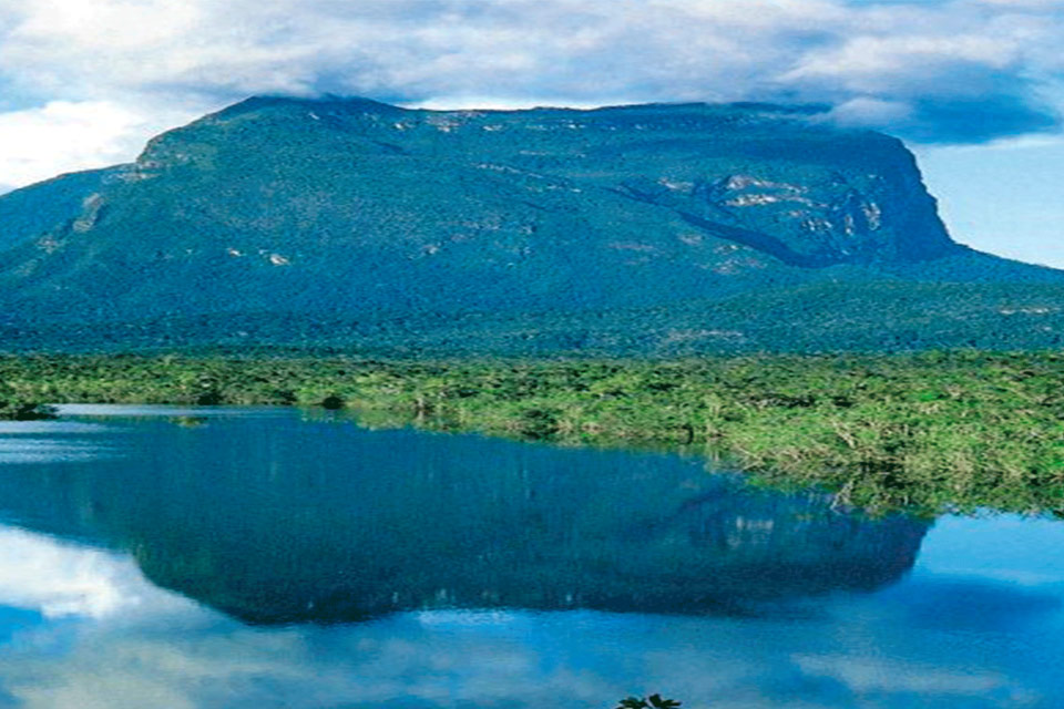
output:
M759 613L891 584L928 528L676 455L282 411L196 423L150 417L109 429L121 455L9 466L0 515L127 551L155 584L254 624L426 608Z

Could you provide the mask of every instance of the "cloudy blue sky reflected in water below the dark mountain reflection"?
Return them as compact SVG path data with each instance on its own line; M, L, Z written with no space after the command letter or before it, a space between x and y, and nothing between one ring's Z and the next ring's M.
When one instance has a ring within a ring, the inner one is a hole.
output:
M1055 533L1053 524L947 518L924 547L915 583L810 599L753 620L440 610L272 628L243 626L152 586L129 554L4 527L0 606L39 610L50 621L18 629L4 646L0 697L28 709L520 709L557 697L566 706L600 707L627 692L667 690L685 706L735 709L917 700L945 707L988 698L993 706L1046 706L1058 682L1047 665L1027 659L1054 656L1054 630L1064 621L1058 565L1039 555L1053 546L1043 538ZM958 549L971 546L973 530L1002 542L991 568L1013 584L988 585L985 564L964 575L971 559ZM1015 577L1014 569L1032 563L1047 564L1047 573ZM948 583L929 583L943 574ZM985 646L959 641L982 637L971 628L958 635L921 620L921 607L978 608L956 599L988 592L1002 607L1026 600L1035 613L1006 631L999 618L982 618L1002 639ZM1024 648L1019 659L1016 638Z

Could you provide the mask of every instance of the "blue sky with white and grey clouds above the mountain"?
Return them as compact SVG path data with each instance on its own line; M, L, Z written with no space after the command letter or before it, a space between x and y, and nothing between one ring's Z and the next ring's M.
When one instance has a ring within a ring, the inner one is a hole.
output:
M1064 267L1062 45L1064 0L0 0L0 189L256 93L816 102L906 138L959 240Z

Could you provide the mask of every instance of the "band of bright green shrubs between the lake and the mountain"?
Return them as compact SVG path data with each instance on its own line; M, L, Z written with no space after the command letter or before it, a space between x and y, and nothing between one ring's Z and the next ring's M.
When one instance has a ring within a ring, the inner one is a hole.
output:
M1064 515L1064 353L678 361L0 357L0 399L349 408L369 423L723 459L841 503ZM7 410L0 409L0 418Z

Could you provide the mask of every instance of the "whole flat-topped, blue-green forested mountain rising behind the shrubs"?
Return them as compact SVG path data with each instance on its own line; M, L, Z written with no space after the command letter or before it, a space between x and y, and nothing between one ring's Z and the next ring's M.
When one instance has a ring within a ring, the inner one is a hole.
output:
M0 349L1057 347L901 142L799 109L256 97L0 197Z

